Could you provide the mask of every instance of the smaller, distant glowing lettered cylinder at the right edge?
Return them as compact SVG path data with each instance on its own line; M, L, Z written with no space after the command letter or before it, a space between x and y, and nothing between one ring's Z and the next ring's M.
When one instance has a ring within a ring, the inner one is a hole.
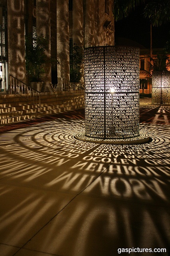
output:
M170 72L152 72L152 104L170 104Z

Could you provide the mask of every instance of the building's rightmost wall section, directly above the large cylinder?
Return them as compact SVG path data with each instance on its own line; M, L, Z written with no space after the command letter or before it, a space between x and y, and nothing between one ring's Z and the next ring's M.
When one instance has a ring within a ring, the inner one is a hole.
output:
M69 36L83 46L114 45L113 0L73 0Z

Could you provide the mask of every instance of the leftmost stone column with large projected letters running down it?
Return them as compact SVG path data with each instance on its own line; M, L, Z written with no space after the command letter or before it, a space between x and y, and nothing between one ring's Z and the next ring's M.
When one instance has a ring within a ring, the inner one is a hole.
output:
M24 0L7 0L8 8L8 71L26 82Z

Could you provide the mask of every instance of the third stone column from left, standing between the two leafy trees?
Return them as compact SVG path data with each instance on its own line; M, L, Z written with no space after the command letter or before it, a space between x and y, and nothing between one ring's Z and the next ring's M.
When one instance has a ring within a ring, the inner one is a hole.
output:
M57 66L58 82L69 80L69 4L68 0L57 0Z

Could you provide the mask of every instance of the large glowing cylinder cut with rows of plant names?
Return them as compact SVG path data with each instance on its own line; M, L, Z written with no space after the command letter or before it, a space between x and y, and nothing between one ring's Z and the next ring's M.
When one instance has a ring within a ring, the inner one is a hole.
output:
M139 135L139 49L85 49L85 136L104 139Z

